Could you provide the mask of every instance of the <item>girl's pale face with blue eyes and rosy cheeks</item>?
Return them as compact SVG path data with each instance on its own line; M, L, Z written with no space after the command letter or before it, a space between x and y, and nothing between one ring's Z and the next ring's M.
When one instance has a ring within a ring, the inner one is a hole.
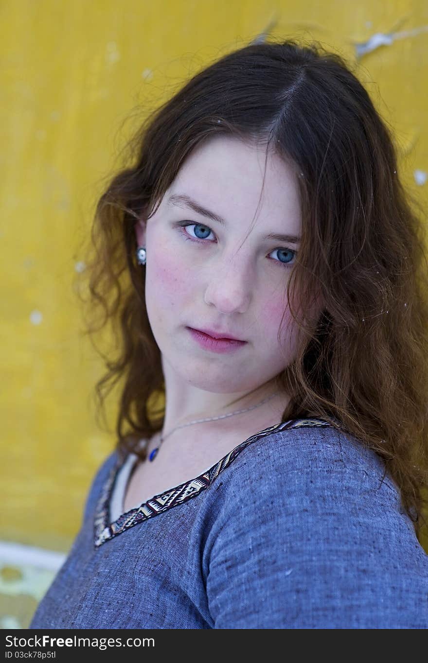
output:
M173 375L178 385L227 394L251 391L294 357L296 330L286 285L301 235L299 194L291 168L269 153L259 212L246 237L264 160L265 149L234 137L208 139L188 156L147 226L145 221L135 226L138 245L147 250L140 269L146 271L151 329L165 379ZM245 343L220 353L202 347L189 328Z

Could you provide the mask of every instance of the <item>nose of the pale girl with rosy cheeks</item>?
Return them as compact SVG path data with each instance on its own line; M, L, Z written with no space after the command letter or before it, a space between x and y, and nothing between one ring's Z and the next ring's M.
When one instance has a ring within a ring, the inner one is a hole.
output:
M222 313L244 313L253 292L253 274L244 255L215 261L208 274L204 300Z

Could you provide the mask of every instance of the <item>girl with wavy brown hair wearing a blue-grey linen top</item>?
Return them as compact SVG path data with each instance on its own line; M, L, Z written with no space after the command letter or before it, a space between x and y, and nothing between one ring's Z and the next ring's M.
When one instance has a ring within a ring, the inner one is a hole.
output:
M117 447L30 628L427 628L425 238L368 93L250 44L135 145L92 231Z

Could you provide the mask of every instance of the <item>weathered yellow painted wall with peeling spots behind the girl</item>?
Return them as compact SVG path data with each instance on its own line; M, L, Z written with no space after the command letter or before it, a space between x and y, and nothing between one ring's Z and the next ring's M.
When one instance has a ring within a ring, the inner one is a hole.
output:
M422 182L427 25L424 0L0 3L3 540L66 552L115 443L94 420L102 365L80 335L74 279L103 178L138 121L131 111L161 103L200 66L261 33L315 38L354 61L353 42L409 30L366 54L357 74L407 154L407 186L426 203L415 171ZM0 626L25 627L47 582L3 563Z

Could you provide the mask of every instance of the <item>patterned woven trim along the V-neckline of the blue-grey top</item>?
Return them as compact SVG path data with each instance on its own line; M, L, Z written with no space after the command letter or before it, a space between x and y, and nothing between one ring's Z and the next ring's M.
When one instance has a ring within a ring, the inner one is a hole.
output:
M163 491L159 495L153 495L147 502L143 502L139 507L130 509L117 520L109 522L109 505L111 501L111 494L115 484L115 480L121 469L125 460L121 461L117 459L116 463L111 467L106 481L102 487L100 498L95 511L94 518L94 546L98 548L103 543L109 539L118 536L125 530L133 527L143 520L148 518L153 518L164 511L168 511L173 507L187 502L189 499L196 497L202 491L206 490L214 479L218 477L220 472L222 472L226 467L234 461L234 459L251 443L256 440L260 440L265 436L269 435L273 431L289 430L291 428L303 428L303 427L314 427L314 426L331 426L330 422L325 421L319 418L300 418L286 422L281 422L279 424L274 424L269 428L265 428L254 435L251 435L250 438L244 440L232 449L231 452L227 453L222 457L217 463L212 465L210 469L206 470L203 474L189 481L185 481L178 486L175 486L167 491Z

